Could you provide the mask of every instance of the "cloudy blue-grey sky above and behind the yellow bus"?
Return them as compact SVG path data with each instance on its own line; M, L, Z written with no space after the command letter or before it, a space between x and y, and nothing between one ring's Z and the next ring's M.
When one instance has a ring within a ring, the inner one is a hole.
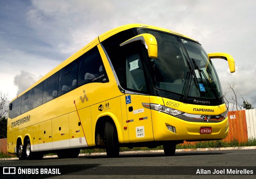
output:
M139 23L194 38L213 59L222 91L256 108L256 1L253 0L0 0L0 91L9 99L104 32ZM231 102L231 100L230 100Z

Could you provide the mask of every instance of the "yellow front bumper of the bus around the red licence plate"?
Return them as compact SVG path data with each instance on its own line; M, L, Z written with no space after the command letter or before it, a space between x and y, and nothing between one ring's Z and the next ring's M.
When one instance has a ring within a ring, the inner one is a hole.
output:
M155 141L204 141L224 139L228 135L228 118L218 123L191 122L178 119L177 117L160 111L151 110L151 112ZM201 127L209 127L212 129L212 131L211 133L200 133ZM170 128L175 130L171 131Z

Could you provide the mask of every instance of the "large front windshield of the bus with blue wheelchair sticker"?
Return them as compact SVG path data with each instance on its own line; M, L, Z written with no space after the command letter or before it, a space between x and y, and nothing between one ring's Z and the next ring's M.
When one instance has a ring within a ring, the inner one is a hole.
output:
M185 97L222 97L216 70L202 46L196 42L153 30L158 58L150 60L155 87Z

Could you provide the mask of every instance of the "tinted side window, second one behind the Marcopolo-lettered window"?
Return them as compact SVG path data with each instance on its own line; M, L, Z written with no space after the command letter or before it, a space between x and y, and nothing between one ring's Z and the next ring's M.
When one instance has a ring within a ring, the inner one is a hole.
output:
M56 97L57 91L58 91L58 73L44 80L43 103L46 103L54 99L54 97Z

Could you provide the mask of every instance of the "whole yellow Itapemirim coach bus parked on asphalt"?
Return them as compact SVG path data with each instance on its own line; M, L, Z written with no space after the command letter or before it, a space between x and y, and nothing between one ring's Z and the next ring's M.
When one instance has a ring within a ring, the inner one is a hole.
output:
M227 109L213 58L198 41L149 25L110 30L62 62L9 105L8 152L77 157L80 149L224 139Z

